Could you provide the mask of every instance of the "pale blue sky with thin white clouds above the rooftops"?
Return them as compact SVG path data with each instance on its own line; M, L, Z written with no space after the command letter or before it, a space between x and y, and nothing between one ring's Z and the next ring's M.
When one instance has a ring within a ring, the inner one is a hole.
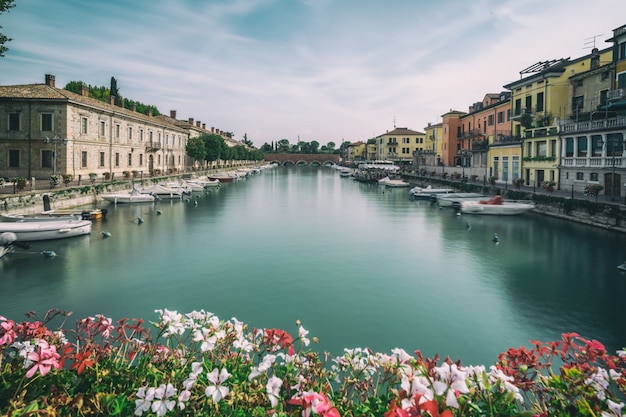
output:
M0 85L110 86L244 135L424 132L539 61L604 49L624 0L16 0Z

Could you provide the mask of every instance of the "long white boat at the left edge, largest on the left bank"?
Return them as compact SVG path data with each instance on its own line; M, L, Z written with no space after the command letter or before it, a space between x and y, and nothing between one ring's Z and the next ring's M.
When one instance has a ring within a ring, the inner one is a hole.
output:
M14 233L17 242L61 239L91 233L91 220L0 222L0 233L6 232Z

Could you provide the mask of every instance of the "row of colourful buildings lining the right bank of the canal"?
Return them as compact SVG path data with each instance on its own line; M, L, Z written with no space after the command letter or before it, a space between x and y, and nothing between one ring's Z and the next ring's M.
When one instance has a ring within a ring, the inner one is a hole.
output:
M377 136L376 158L406 163L411 152L420 170L461 168L485 180L522 178L535 187L549 181L577 192L600 184L605 194L623 197L626 25L607 42L576 59L537 62L505 91L485 94L467 112L450 109L423 134L395 129Z

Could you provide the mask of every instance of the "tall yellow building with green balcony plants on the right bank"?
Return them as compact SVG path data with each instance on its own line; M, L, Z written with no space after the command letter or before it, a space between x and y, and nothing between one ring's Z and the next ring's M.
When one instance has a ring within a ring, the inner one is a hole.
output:
M512 132L523 142L522 178L526 185L540 187L544 181L558 182L559 121L575 118L584 107L577 96L570 99L570 78L611 59L611 49L607 48L575 60L538 62L520 71L522 79L504 86L511 90ZM496 161L492 161L496 172Z

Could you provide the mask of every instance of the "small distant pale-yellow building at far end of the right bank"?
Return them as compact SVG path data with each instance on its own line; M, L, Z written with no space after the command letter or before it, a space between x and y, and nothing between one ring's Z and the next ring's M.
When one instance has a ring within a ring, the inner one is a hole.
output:
M376 137L376 159L400 164L412 163L413 154L424 149L426 135L406 127L397 127Z

